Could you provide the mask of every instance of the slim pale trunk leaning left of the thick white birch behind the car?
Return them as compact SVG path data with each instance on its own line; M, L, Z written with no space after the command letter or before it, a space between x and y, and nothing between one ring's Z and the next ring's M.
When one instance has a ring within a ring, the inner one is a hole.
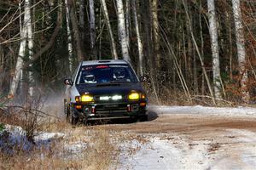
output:
M118 54L116 52L116 46L115 46L115 42L114 42L114 38L113 38L112 28L111 28L111 25L109 22L107 4L106 4L105 0L101 0L101 4L102 4L102 8L103 8L103 14L104 14L107 26L108 26L108 34L110 37L111 53L113 55L113 59L119 59Z

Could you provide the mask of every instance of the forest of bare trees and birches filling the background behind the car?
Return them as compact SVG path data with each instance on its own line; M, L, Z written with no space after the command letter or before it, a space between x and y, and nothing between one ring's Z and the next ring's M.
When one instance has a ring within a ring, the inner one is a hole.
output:
M125 59L151 102L252 104L253 0L1 0L0 95L59 94L81 60Z

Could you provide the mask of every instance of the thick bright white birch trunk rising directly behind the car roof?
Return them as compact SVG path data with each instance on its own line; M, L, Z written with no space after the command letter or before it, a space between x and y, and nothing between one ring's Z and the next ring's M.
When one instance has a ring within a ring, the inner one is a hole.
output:
M118 25L119 25L119 42L122 48L123 59L131 62L129 56L128 45L126 41L126 30L125 30L125 14L124 5L122 0L116 0L117 5L117 15L118 15Z

